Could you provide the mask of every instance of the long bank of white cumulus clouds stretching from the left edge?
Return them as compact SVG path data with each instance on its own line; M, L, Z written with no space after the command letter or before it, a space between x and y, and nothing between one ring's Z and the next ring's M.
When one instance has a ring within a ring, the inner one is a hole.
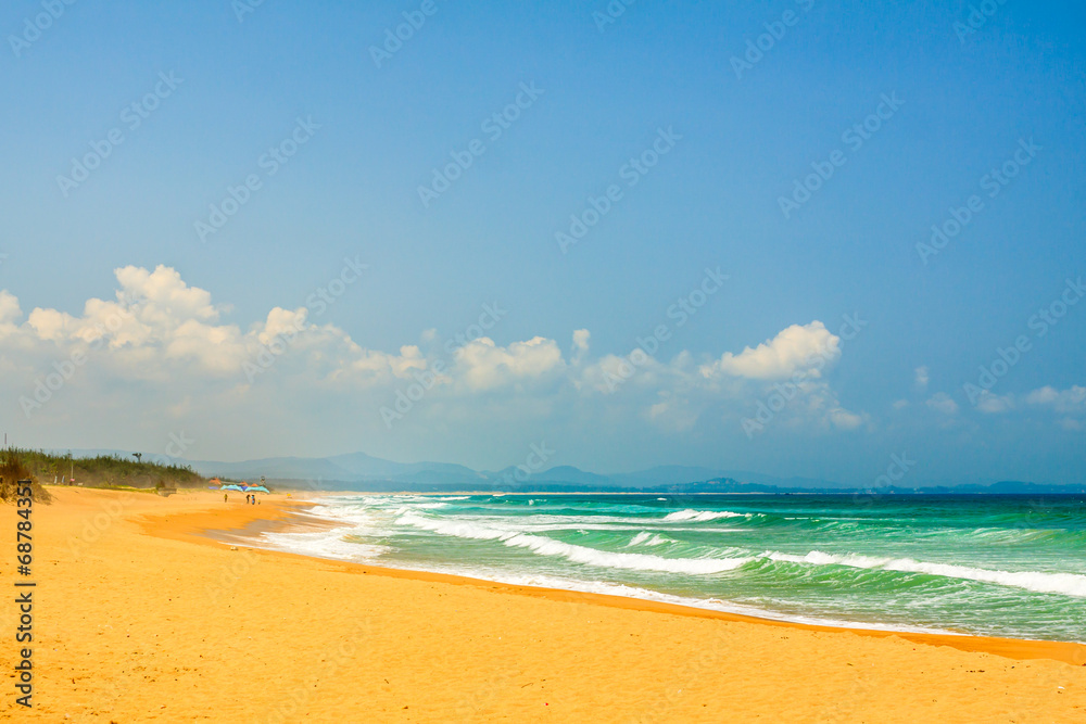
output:
M568 353L544 336L506 344L482 336L447 357L426 344L437 339L433 330L420 334L424 348L384 352L334 325L314 323L306 307L276 306L239 325L226 305L169 267L128 266L115 276L112 299L90 299L75 315L36 308L24 320L18 300L0 292L0 388L24 411L23 401L37 405L34 415L54 394L67 399L36 423L110 408L191 416L204 427L231 418L294 428L304 418L320 429L339 406L383 430L379 410L399 401L427 410L409 424L546 420L560 408L608 429L647 423L679 433L709 421L742 434L741 420L780 389L787 392L785 408L774 410L782 428L855 430L867 421L845 408L823 376L839 358L841 341L820 321L716 358L675 351L665 359L640 350L591 357L586 329L571 333ZM74 369L63 393L43 386L56 365ZM413 397L400 396L411 385Z

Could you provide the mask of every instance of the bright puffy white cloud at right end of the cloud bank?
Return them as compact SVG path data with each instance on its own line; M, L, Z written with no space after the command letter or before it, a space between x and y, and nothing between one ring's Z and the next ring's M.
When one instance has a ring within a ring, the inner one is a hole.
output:
M801 373L819 378L822 368L841 356L841 338L820 321L793 325L757 347L740 354L725 352L720 359L702 368L706 377L730 374L755 380L783 380Z

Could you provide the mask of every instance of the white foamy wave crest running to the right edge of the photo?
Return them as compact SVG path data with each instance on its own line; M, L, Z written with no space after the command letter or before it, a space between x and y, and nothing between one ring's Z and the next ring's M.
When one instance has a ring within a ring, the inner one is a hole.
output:
M881 569L884 571L900 571L902 573L926 573L948 579L963 579L994 583L1001 586L1024 588L1041 594L1062 594L1076 598L1086 598L1086 575L1076 573L1044 573L1040 571L992 571L954 563L931 563L911 558L876 558L872 556L835 555L821 550L812 550L806 556L794 556L782 552L766 552L770 560L788 561L793 563L809 563L813 566L848 566L850 568Z

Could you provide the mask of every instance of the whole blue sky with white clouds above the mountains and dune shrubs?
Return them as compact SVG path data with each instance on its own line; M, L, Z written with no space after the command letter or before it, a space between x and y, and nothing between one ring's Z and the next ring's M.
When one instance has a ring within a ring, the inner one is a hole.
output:
M970 3L937 4L639 0L602 23L603 1L435 0L378 67L371 48L422 2L266 0L239 21L226 0L80 0L38 35L42 4L9 3L0 420L47 447L160 452L184 431L200 459L500 468L546 441L556 463L599 471L863 484L906 452L915 484L1081 483L1086 304L1044 335L1030 320L1086 272L1084 11L993 0L973 28ZM736 73L748 41L765 50ZM484 122L518 93L495 138ZM299 119L305 141L269 175ZM671 147L630 176L661 130ZM86 180L58 180L111 131L123 142ZM419 187L476 140L424 205ZM786 217L781 198L835 151ZM1005 163L1016 175L992 198ZM251 175L260 188L201 239ZM556 232L613 185L563 253ZM974 194L925 264L918 243ZM344 258L367 268L308 303ZM718 267L728 280L680 326L669 308ZM503 310L485 340L446 347L484 304ZM863 322L853 339L844 315ZM653 358L608 384L659 325ZM402 418L382 414L428 374ZM744 424L774 393L772 419Z

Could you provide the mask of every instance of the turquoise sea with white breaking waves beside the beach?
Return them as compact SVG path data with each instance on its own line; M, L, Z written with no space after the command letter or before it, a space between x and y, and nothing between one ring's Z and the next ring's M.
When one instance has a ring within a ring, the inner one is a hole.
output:
M1086 497L343 495L312 556L771 618L1086 642Z

